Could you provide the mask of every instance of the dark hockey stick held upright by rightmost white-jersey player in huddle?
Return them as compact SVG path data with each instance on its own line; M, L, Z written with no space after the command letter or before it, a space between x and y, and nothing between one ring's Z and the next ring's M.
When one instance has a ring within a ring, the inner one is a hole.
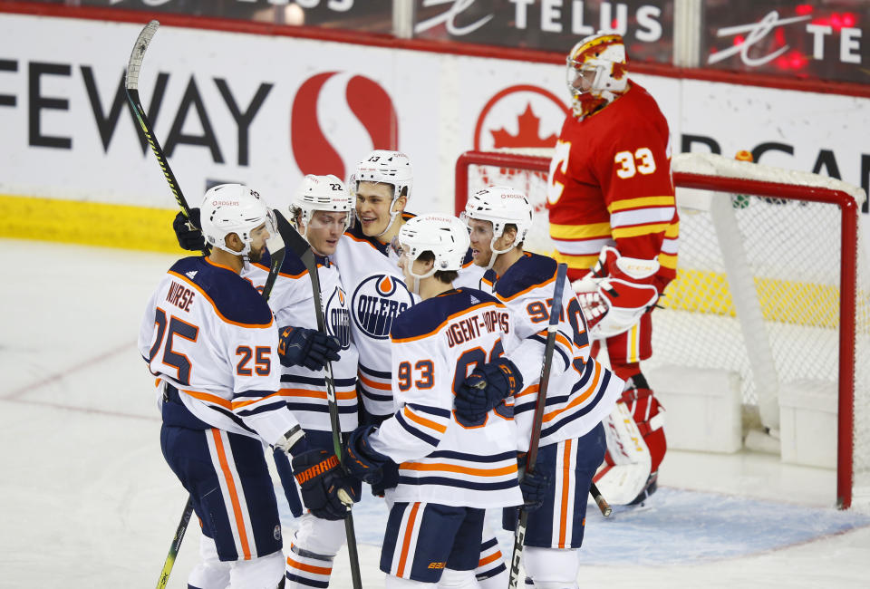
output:
M553 364L553 352L556 351L556 328L559 324L559 315L562 314L562 293L565 291L565 275L568 266L560 264L556 269L556 285L553 289L553 303L550 305L550 320L546 326L546 345L544 347L544 365L541 366L541 380L537 388L537 401L535 403L535 417L532 420L532 436L528 440L528 453L526 454L526 472L535 471L537 459L537 446L541 440L541 427L544 423L544 406L546 405L546 390L549 387L550 367ZM519 507L519 521L514 531L514 550L510 556L510 581L509 589L517 589L519 583L519 563L523 558L523 545L526 542L526 526L528 512L522 506Z

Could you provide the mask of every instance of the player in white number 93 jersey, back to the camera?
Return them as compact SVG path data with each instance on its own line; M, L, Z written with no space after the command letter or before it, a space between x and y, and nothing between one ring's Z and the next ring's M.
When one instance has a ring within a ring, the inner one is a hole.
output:
M388 588L477 587L485 509L522 502L517 430L504 402L475 421L455 418L453 389L501 353L513 328L493 296L453 288L469 245L459 219L414 217L399 242L404 282L421 302L392 322L393 413L353 432L347 465L369 482L400 465L381 554Z

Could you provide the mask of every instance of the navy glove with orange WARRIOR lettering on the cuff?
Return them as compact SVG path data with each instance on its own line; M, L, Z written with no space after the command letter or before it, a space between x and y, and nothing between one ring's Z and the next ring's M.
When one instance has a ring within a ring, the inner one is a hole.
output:
M302 502L315 517L343 519L359 501L353 481L342 474L338 458L324 449L303 452L293 459L293 475L302 489Z

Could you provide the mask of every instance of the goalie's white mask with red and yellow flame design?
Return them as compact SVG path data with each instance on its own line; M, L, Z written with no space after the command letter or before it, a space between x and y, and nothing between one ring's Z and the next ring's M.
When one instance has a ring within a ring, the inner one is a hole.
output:
M601 109L628 87L621 35L590 35L575 44L566 62L566 82L577 117L583 118Z

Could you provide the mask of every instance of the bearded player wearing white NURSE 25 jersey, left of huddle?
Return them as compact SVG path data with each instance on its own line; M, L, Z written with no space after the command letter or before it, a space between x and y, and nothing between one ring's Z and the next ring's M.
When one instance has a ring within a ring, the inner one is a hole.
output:
M273 589L285 564L263 444L293 453L300 475L313 475L304 477L306 505L341 506L337 489L350 485L334 460L305 451L278 393L275 318L240 276L266 251L271 212L254 190L221 185L206 193L201 223L211 254L182 258L164 275L139 348L160 381L163 455L202 526L189 587Z

